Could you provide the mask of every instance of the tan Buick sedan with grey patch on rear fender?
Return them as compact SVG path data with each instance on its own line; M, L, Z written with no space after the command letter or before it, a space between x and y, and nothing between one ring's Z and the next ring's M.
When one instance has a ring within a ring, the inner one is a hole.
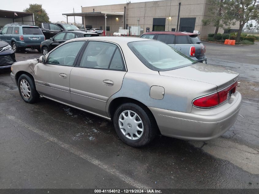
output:
M130 146L162 135L207 141L235 122L238 73L198 63L156 40L86 37L12 65L25 102L39 97L112 120Z

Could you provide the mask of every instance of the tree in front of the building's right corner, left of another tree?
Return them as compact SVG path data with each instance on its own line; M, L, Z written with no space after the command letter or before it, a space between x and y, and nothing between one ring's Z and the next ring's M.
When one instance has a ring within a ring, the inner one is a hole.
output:
M211 6L208 8L208 11L212 17L204 19L202 22L203 25L212 24L213 26L216 26L213 36L213 38L215 38L219 28L222 28L224 25L230 26L230 24L233 23L233 18L225 11L227 0L210 0L209 3Z

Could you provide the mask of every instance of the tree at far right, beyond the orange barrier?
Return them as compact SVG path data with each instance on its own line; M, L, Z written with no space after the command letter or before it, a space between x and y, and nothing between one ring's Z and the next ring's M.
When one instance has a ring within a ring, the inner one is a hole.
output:
M254 25L258 27L259 0L229 0L226 4L226 9L228 14L232 15L239 22L237 42L240 40L242 29L249 21L256 21Z

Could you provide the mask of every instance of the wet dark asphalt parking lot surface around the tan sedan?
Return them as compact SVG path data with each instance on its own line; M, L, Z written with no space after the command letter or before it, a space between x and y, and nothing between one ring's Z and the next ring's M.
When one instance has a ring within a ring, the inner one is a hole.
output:
M0 188L259 188L259 45L205 45L208 63L240 73L243 95L234 126L208 142L127 146L107 120L43 98L25 103L1 70Z

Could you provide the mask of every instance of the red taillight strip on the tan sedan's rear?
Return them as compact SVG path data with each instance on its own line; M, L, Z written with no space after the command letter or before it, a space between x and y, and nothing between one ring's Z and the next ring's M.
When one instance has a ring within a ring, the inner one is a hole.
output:
M236 81L232 85L218 92L195 99L192 102L192 104L196 107L201 107L201 108L211 108L211 107L220 105L229 99L230 97L229 95L234 94L236 92L237 86L238 86L238 82Z

